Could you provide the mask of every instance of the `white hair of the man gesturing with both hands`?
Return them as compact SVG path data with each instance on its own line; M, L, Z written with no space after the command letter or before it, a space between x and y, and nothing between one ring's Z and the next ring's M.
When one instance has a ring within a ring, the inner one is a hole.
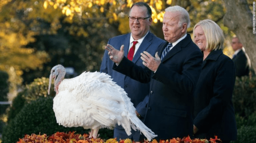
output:
M179 25L181 26L184 23L187 23L187 28L190 27L190 18L189 18L189 13L187 12L186 9L180 6L170 6L165 9L165 12L177 12L180 13L180 21Z

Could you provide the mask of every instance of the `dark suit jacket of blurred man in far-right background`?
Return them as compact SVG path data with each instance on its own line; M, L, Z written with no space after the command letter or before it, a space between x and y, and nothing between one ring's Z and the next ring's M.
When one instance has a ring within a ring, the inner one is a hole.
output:
M246 55L244 50L240 50L237 55L235 55L232 60L235 63L236 76L241 77L244 75L249 75L251 63L249 57Z

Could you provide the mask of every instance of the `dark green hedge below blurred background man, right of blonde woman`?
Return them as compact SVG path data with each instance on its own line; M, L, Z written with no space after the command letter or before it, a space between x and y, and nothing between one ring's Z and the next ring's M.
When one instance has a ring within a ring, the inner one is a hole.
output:
M236 79L233 92L235 112L239 116L248 117L256 111L256 77Z

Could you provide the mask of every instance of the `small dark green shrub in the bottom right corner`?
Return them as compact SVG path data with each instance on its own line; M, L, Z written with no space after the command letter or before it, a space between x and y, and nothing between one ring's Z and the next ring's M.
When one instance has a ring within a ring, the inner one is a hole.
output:
M237 130L237 140L231 143L255 143L256 126L242 126Z

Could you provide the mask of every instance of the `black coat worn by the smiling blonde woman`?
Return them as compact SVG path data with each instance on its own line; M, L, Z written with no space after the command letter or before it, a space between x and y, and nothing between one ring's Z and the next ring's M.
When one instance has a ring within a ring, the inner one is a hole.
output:
M194 93L196 138L236 140L232 92L235 84L234 62L222 50L212 51L202 64Z

